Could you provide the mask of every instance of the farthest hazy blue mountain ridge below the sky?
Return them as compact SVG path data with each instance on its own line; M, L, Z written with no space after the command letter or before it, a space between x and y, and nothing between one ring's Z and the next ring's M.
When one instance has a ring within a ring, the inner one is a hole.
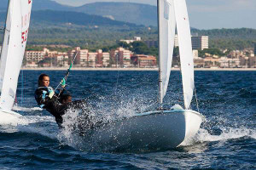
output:
M7 11L8 0L1 0L0 10ZM94 14L144 26L157 26L155 6L141 3L88 3L80 7L62 5L51 0L33 0L32 11L51 9L55 11L73 11ZM148 11L151 11L148 13Z

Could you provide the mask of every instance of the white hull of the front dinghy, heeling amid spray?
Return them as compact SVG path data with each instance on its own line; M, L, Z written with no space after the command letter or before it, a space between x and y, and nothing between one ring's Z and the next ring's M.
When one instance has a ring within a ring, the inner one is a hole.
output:
M175 148L198 132L204 116L196 111L152 111L107 124L90 133L104 146L130 149Z

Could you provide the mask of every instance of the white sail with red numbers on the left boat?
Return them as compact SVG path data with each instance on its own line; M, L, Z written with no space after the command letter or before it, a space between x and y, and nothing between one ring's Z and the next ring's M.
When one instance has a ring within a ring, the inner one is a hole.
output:
M9 0L0 59L0 108L11 110L26 48L32 0Z

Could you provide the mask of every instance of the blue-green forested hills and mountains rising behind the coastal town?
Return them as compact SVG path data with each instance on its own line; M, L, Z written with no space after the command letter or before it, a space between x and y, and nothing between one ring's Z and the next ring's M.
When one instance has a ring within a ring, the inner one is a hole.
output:
M1 1L0 27L3 27L8 1ZM151 22L145 25L156 23L156 8L150 5L90 3L74 8L50 0L34 0L32 9L34 11L32 11L28 44L65 44L84 48L104 48L113 46L120 39L138 36L143 40L157 40L158 37L156 26L150 26L148 29L148 26L139 25L145 24L145 20ZM138 25L131 24L136 23L136 20ZM214 30L193 28L191 32L199 36L208 36L210 48L253 48L253 43L256 42L256 30L249 28ZM3 34L3 31L0 33Z

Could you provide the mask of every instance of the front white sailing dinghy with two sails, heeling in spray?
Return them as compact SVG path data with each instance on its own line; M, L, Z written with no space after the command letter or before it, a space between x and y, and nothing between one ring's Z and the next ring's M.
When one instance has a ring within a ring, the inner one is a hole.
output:
M159 21L159 96L160 104L169 82L175 29L177 26L184 109L174 105L171 111L151 111L137 114L93 130L90 137L98 144L130 148L175 148L198 132L204 119L191 111L194 92L194 61L191 47L189 18L185 0L158 0Z

